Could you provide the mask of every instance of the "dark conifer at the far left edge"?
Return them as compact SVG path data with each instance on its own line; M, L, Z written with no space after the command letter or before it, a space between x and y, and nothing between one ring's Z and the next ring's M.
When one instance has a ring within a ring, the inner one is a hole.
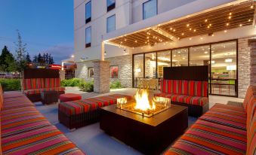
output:
M2 54L0 56L0 71L16 71L14 56L6 46L2 49Z

